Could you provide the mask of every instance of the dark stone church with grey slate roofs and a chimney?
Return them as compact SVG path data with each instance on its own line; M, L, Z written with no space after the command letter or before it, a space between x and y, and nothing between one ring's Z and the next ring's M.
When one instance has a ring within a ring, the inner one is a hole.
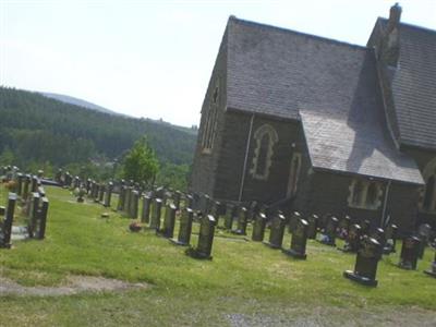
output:
M366 46L228 21L191 189L215 199L436 227L436 31L377 19Z

